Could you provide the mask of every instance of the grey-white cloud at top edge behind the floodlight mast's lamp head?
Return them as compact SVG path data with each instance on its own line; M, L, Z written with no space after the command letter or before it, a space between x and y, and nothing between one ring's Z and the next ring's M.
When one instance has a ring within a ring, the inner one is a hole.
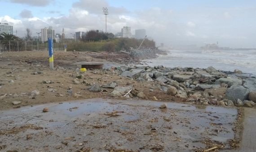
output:
M73 8L80 8L93 14L102 14L102 8L107 7L109 14L123 14L128 13L124 7L112 7L106 0L79 0L73 3Z

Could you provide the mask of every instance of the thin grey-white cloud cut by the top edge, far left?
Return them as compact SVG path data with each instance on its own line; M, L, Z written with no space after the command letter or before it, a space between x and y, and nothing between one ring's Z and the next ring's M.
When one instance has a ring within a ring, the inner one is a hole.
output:
M50 0L9 0L9 2L30 6L46 6L50 4Z

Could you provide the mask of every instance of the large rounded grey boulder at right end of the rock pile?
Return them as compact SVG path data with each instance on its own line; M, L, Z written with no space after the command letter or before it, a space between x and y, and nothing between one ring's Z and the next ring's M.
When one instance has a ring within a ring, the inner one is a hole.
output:
M226 93L226 97L232 101L246 100L248 98L249 90L243 86L231 86Z

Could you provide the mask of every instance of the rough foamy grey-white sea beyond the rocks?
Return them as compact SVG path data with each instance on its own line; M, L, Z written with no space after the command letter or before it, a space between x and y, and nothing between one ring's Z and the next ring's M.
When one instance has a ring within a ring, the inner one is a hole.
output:
M168 50L167 55L143 60L149 66L207 68L256 74L256 50Z

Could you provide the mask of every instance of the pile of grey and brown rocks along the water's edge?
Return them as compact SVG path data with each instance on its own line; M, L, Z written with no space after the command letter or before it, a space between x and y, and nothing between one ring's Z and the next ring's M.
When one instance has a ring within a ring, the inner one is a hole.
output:
M134 52L136 53L136 51ZM133 68L120 67L116 70L121 76L153 83L160 91L166 92L170 96L187 98L187 101L190 102L247 107L254 106L254 102L256 102L256 76L244 74L237 69L234 72L225 72L213 67L194 69L135 66ZM127 88L125 91L127 92L129 89L131 88ZM112 96L120 95L121 90L116 88L115 90ZM139 96L144 98L144 93L141 94Z

